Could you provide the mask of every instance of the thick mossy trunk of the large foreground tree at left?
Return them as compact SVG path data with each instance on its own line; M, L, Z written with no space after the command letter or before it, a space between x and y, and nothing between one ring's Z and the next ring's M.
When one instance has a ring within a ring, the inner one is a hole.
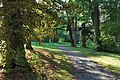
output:
M3 0L4 26L6 33L6 64L5 68L26 67L23 44L23 22L19 2Z

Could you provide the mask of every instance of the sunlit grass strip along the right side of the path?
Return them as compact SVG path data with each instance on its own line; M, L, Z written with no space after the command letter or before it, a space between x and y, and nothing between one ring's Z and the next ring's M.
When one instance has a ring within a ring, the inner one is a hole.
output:
M117 77L120 77L120 54L119 53L108 53L98 52L90 48L82 47L68 47L73 51L79 51L81 54L89 57L98 64L103 65L106 69L113 72Z

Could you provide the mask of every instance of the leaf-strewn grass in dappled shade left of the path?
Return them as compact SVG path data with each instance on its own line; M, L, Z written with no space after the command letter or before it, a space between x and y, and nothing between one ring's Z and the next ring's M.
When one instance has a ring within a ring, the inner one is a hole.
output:
M29 63L36 72L44 74L48 80L73 79L73 66L68 57L58 49L60 44L42 43L40 46L36 42L32 42L32 45L35 59L29 60Z

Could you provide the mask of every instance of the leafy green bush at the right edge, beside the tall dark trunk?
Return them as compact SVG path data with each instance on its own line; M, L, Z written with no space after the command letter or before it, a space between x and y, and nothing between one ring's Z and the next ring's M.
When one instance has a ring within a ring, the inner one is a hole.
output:
M108 52L120 52L120 22L107 22L101 29L101 44L98 50Z

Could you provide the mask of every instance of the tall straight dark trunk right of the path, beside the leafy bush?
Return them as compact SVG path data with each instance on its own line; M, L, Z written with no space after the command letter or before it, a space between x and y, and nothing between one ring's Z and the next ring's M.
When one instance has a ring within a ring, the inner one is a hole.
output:
M100 44L100 20L99 20L99 5L97 1L94 1L94 12L93 12L93 25L95 28L95 39L96 43Z

